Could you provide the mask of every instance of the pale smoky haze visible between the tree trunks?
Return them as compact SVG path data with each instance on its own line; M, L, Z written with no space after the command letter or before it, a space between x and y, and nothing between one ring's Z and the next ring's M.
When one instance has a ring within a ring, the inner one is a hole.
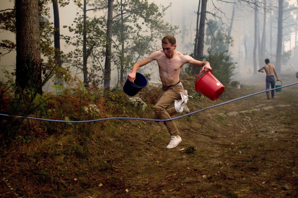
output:
M194 51L194 39L196 34L196 12L198 10L198 3L199 1L194 0L172 0L172 1L149 1L149 2L155 2L157 5L163 5L168 6L171 3L171 6L167 9L165 12L164 19L166 22L169 22L171 25L178 25L179 29L177 32L179 32L176 37L177 41L177 51L190 55ZM234 2L234 1L231 1ZM277 6L277 2L272 1L272 8L275 10L277 9L274 6ZM292 5L294 7L297 7L297 2L294 0L289 1L289 5ZM2 10L13 8L14 4L10 1L1 1L0 6L2 7ZM251 5L253 6L253 5ZM233 76L234 80L243 79L250 77L250 73L252 75L253 72L253 45L254 45L254 10L251 6L248 6L245 2L240 5L237 3L237 6L235 8L235 15L234 15L234 21L233 21L233 29L231 32L231 37L233 38L232 46L229 46L229 53L231 54L231 57L233 58L233 62L237 62L235 73L236 75ZM51 17L48 19L50 22L53 22L53 11L52 11L52 2L48 4L48 7L50 8L50 14ZM269 7L269 5L267 5ZM88 9L88 8L87 8ZM297 10L297 9L296 9ZM88 16L102 16L106 13L105 11L98 11L98 12L88 12ZM232 11L233 11L233 3L227 3L222 1L208 1L207 2L207 11L213 13L214 15L207 14L207 23L211 20L216 20L219 24L219 29L222 32L227 32L230 23L231 23L231 17L232 17ZM293 10L295 11L295 9ZM70 32L68 31L68 28L63 28L64 25L70 26L73 24L73 20L76 17L76 13L81 12L77 6L75 6L72 2L68 6L65 7L59 7L59 15L60 15L60 34L62 35L69 35ZM262 34L262 26L263 26L263 11L259 11L259 27L260 27L260 34L259 37ZM283 51L292 50L292 53L294 52L294 48L296 47L296 39L297 39L297 12L291 12L291 15L293 15L293 21L291 23L296 23L296 25L293 25L290 30L286 30L285 35L283 37ZM272 11L273 15L276 15L276 11ZM276 37L277 37L277 20L274 20L271 24L272 30L270 31L270 20L268 19L270 13L268 11L267 13L267 23L266 23L266 54L265 58L269 58L270 62L274 64L276 53ZM272 17L274 18L274 17ZM276 17L275 17L276 18ZM286 26L286 25L285 25ZM205 29L209 28L209 26L206 24ZM296 29L295 29L296 28ZM296 31L296 32L295 32ZM272 47L270 47L270 32L272 37ZM205 30L206 33L206 30ZM246 37L246 46L247 46L247 54L245 54L245 44L244 39ZM2 31L0 34L0 39L9 39L11 41L15 41L15 35ZM206 36L205 36L206 39ZM160 42L160 41L158 41ZM158 45L161 45L157 43ZM204 54L207 53L208 46L204 46ZM65 42L61 39L61 50L64 53L67 53L73 48L71 46L66 46ZM298 50L297 50L298 52ZM296 53L297 56L297 53ZM245 60L246 57L246 60ZM5 68L8 71L13 71L15 69L16 64L16 53L15 51L6 54L5 56L1 57L0 60L0 67ZM258 62L258 61L257 61ZM264 60L261 60L262 63L264 63ZM292 68L290 64L294 65L294 70L298 70L298 65L295 64L297 62L297 59L295 57L291 57L290 60L282 65L281 72L284 71L290 71ZM115 68L115 66L112 63L112 67ZM211 65L212 67L212 65ZM257 68L259 68L259 62ZM148 66L145 66L144 72L150 72L151 74L151 82L159 83L159 74L158 74L158 67L157 64L152 62L148 64ZM251 71L250 71L251 70ZM1 72L0 74L1 79L4 79L4 75ZM83 80L82 75L79 75L79 78ZM118 80L118 74L117 69L112 70L112 76L111 76L111 86L115 86ZM43 91L45 92L52 92L54 89L52 88L52 83L47 84Z

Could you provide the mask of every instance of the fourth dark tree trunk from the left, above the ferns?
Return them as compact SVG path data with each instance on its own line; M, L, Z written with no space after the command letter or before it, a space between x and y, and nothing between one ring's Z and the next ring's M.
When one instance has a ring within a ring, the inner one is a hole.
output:
M104 72L104 88L110 88L111 82L111 56L112 56L112 18L113 18L113 0L108 0L108 20L106 28L106 36L108 42L106 43L106 62Z

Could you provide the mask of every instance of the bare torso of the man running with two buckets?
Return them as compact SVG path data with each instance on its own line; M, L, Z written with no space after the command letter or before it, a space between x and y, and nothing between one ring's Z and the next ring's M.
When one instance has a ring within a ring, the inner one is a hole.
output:
M160 80L164 87L179 82L182 66L188 61L187 57L180 52L175 51L173 57L168 58L162 50L154 53L154 59L158 64Z

